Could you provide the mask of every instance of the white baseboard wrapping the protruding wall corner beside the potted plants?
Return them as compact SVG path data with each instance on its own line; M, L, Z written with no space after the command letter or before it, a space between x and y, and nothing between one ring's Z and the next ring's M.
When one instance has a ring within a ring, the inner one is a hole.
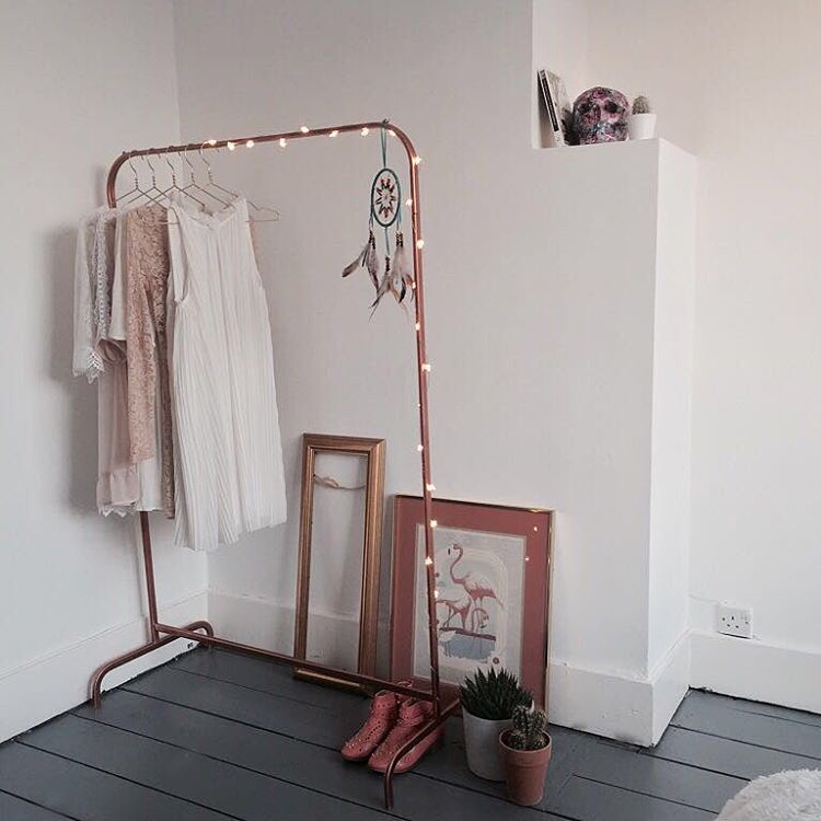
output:
M687 692L689 634L646 678L563 661L551 661L547 674L553 724L652 747Z

